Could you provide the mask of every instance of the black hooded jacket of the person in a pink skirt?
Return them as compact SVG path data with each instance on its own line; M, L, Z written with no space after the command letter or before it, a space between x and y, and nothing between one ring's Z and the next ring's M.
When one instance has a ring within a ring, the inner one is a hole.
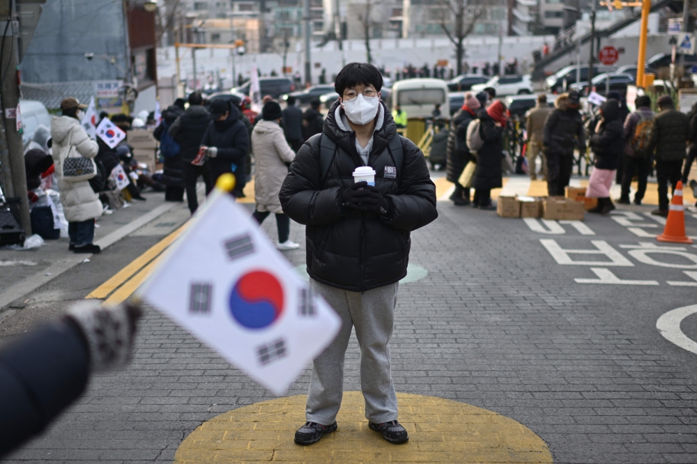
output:
M590 148L593 150L598 169L617 169L620 155L625 151L625 127L620 119L620 103L617 100L607 100L600 107L603 123L600 130L590 138Z

